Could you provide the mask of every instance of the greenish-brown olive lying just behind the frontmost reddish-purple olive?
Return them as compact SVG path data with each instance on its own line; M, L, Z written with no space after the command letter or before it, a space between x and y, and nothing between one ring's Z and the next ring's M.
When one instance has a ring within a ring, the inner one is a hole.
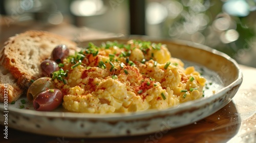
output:
M35 97L42 91L47 89L53 89L55 85L51 78L49 77L42 77L35 80L29 87L27 91L27 99L28 101L33 101Z

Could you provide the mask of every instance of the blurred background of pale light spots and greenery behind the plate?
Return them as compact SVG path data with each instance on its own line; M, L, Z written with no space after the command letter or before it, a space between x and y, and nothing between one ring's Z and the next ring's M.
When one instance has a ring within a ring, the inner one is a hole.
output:
M0 0L0 43L29 29L76 41L148 35L205 44L256 67L255 10L256 0Z

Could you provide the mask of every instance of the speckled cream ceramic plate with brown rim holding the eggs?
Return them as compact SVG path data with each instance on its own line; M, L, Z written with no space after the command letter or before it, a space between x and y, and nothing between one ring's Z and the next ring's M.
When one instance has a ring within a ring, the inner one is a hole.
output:
M187 41L156 40L146 37L129 37L95 40L95 44L117 40L144 39L166 44L173 57L182 59L186 66L195 65L207 79L205 97L180 104L165 110L148 110L136 113L89 114L66 112L59 108L52 112L35 111L30 103L22 104L20 98L14 105L0 104L1 124L8 122L8 128L37 134L65 137L114 137L166 133L166 130L185 126L201 120L218 111L231 101L242 83L238 64L227 55L207 46ZM81 43L86 45L86 42ZM216 90L212 94L212 90ZM20 105L25 108L20 109Z

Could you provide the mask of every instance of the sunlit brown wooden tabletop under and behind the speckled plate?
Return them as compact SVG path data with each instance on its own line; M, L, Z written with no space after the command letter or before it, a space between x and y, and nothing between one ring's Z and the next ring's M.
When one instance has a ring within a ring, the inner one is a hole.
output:
M38 28L37 28L38 29ZM51 28L48 31L79 40L118 36L69 27ZM45 30L45 29L44 29ZM74 33L75 30L76 33ZM20 30L22 31L22 30ZM70 35L71 34L71 35ZM73 35L72 35L73 34ZM90 34L90 35L88 35ZM216 113L201 121L167 132L156 132L141 136L116 138L67 138L65 136L44 136L8 129L8 139L4 138L3 124L0 125L0 142L256 142L256 68L240 65L243 83L233 100Z

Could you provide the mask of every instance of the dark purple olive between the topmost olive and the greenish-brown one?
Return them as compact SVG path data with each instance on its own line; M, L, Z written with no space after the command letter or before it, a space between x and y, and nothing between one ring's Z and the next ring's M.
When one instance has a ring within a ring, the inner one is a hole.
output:
M50 59L42 61L39 66L39 71L44 77L51 77L51 73L56 70L59 70L58 64Z

